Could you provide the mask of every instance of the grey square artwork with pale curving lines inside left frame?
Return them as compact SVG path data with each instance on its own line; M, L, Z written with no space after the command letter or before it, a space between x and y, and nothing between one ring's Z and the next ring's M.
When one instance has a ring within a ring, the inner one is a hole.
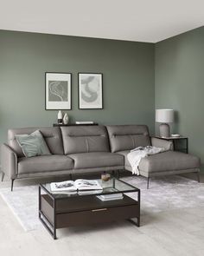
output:
M67 102L68 101L67 81L48 81L48 101Z

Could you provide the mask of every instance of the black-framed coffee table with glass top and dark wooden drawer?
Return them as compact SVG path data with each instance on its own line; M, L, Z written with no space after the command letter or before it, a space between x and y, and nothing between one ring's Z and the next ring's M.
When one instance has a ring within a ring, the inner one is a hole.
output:
M52 193L50 183L39 185L39 218L48 232L56 239L56 229L67 226L129 220L140 225L140 190L124 181L112 178L102 182L102 191L95 194ZM92 192L94 193L94 192ZM102 201L101 194L124 194L122 200ZM127 194L137 193L137 200ZM131 220L137 218L137 222Z

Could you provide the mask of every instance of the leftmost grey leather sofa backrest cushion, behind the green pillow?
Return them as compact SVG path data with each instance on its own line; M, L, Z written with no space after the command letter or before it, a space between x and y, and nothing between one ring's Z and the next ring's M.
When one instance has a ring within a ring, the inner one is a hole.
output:
M16 141L15 135L30 135L35 130L41 131L41 135L46 141L51 154L64 154L60 128L13 128L8 131L8 144L16 152L17 156L22 157L24 154Z

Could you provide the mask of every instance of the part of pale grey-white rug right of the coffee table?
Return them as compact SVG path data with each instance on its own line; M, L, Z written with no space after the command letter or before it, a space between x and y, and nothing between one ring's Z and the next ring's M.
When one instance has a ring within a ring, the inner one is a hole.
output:
M122 180L141 189L141 214L204 206L204 183L198 181L176 175L157 177L150 179L146 189L147 179L142 176Z

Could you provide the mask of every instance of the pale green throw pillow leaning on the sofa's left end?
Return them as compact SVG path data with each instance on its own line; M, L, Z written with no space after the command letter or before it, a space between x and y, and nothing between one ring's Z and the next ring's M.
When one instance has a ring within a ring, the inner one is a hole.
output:
M16 141L22 148L22 152L23 154L25 154L26 157L42 155L42 154L51 154L39 130L36 130L31 135L15 135L15 136L16 136Z

